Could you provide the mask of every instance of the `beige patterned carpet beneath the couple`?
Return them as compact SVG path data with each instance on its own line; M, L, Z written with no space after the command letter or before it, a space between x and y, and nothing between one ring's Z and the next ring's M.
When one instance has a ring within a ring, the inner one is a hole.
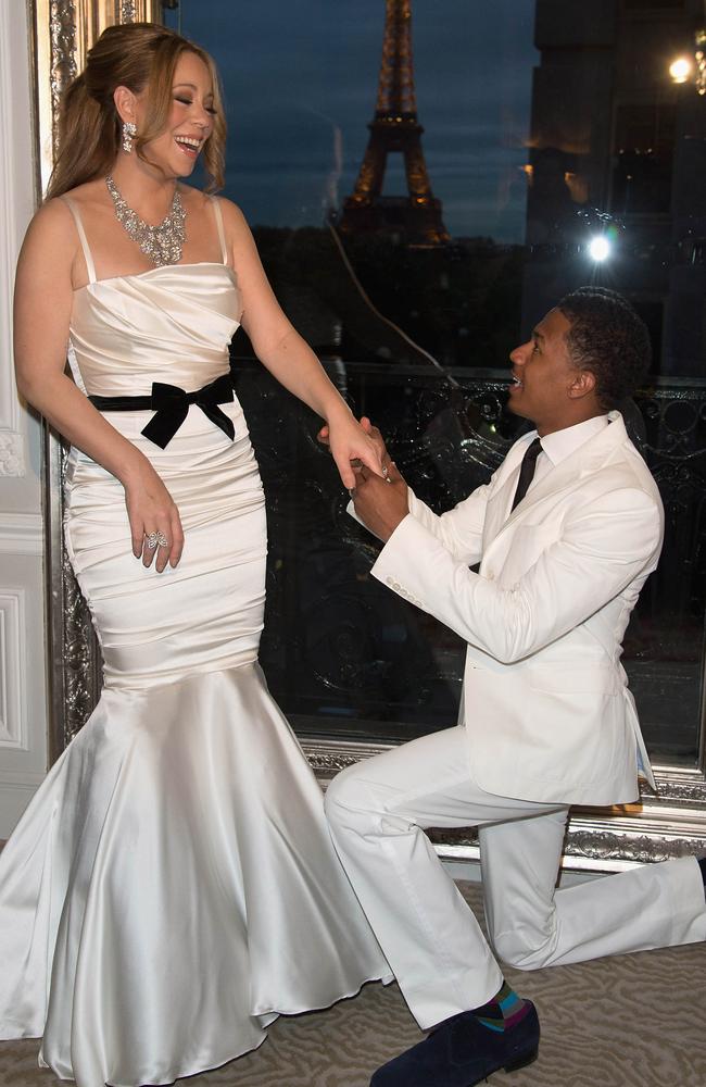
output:
M464 891L480 917L479 888ZM491 1087L706 1087L706 945L507 976L535 1001L542 1045L534 1064ZM257 1052L179 1084L367 1087L420 1037L396 986L368 985L326 1012L278 1020ZM37 1048L0 1042L2 1087L56 1082L37 1069Z

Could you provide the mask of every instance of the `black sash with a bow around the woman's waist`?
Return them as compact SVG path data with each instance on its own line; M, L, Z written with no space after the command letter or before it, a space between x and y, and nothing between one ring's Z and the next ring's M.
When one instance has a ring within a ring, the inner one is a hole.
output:
M166 449L172 441L187 417L191 404L197 404L232 441L236 436L232 420L220 411L218 404L232 403L234 378L231 366L230 373L222 374L196 392L185 392L177 385L153 382L152 393L149 397L89 397L88 399L99 411L153 411L154 415L141 433L161 449Z

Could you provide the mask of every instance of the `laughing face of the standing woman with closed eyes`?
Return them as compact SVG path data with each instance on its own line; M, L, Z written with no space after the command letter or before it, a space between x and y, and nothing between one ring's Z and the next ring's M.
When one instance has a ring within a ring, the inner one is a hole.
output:
M135 120L142 130L149 88L135 96ZM144 158L167 177L187 177L214 126L214 90L209 68L196 53L179 57L172 82L172 107L166 127L144 145Z

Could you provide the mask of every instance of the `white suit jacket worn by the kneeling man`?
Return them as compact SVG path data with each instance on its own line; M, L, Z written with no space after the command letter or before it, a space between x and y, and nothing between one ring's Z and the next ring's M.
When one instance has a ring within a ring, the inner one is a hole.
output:
M497 796L627 803L638 750L654 785L620 655L664 512L622 417L609 417L513 513L535 432L442 516L409 491L411 512L373 567L468 644L459 723L471 777Z

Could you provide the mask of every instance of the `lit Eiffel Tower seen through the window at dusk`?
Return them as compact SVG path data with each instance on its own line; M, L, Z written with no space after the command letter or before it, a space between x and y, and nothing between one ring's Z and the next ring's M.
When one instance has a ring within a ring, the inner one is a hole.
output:
M412 64L412 0L386 0L384 40L375 117L353 195L339 226L349 234L399 234L416 246L449 241L441 201L431 191L421 150ZM388 155L404 155L407 196L383 197Z

